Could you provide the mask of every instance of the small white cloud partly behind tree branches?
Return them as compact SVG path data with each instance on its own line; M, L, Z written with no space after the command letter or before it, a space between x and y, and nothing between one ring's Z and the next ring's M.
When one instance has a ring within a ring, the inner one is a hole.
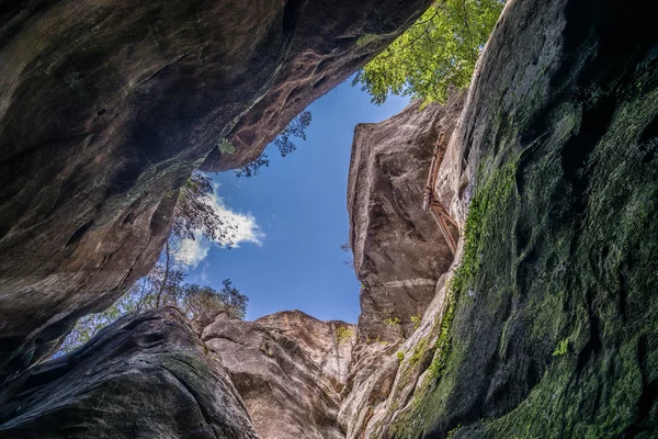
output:
M231 211L224 204L224 200L214 193L208 196L208 204L213 206L224 223L232 228L230 238L234 248L240 247L241 243L251 243L258 246L262 244L265 234L261 230L253 215ZM192 268L208 256L213 245L226 246L229 244L226 238L211 241L203 237L201 232L196 232L194 237L195 239L184 239L174 254L177 261Z

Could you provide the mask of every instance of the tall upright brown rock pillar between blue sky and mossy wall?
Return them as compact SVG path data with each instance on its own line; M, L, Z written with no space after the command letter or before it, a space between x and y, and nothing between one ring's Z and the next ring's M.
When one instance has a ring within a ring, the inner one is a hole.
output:
M362 282L359 331L394 341L413 331L453 256L423 189L439 135L452 134L463 97L419 110L412 103L378 124L354 130L348 184L350 243Z

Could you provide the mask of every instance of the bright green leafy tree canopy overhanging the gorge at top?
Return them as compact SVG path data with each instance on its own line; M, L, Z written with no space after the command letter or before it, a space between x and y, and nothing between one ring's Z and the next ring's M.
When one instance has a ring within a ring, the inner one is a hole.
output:
M443 102L466 88L496 21L501 0L439 0L390 46L365 65L353 85L382 104L388 93ZM363 35L367 45L375 36ZM358 41L359 44L359 41Z

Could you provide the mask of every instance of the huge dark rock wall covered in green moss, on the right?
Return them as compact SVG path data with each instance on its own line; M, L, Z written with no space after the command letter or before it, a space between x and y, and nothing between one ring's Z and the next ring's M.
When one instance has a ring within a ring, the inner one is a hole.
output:
M384 437L658 435L649 8L507 3L440 178L466 222L461 262Z

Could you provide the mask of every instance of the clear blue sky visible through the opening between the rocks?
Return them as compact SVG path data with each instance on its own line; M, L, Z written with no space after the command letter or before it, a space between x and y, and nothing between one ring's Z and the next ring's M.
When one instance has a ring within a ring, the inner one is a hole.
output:
M360 283L340 245L348 239L347 187L354 126L401 111L407 98L377 106L351 79L313 103L307 140L285 158L268 147L270 167L252 178L212 175L223 213L240 224L238 248L194 243L188 282L219 289L230 278L249 296L247 319L300 309L355 323Z

